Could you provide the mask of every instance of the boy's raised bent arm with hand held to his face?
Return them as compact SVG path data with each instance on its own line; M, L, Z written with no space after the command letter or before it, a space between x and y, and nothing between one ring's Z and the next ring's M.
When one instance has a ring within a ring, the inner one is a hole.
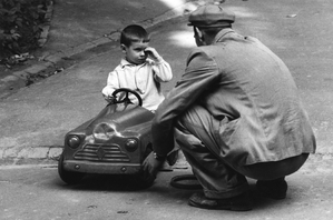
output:
M154 60L153 70L155 80L158 82L170 81L173 79L170 64L167 63L154 48L148 47L145 51L148 53L149 58Z

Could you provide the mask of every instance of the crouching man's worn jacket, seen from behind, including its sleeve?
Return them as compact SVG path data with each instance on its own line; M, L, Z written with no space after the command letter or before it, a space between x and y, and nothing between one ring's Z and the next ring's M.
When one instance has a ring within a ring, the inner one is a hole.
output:
M241 166L315 151L315 138L296 84L284 62L252 37L222 30L210 46L194 49L186 71L153 122L153 144L165 154L173 124L193 104L216 120L221 156Z

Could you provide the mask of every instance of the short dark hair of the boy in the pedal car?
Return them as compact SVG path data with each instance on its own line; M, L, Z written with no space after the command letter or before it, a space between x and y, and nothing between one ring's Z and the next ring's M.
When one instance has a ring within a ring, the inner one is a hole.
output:
M133 42L149 42L150 38L147 31L137 24L127 26L120 34L120 43L129 47Z

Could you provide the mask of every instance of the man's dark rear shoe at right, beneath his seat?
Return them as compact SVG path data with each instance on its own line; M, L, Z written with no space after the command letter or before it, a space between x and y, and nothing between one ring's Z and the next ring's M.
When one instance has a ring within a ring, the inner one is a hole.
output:
M262 197L278 200L286 197L287 183L284 178L270 181L258 180L256 188Z

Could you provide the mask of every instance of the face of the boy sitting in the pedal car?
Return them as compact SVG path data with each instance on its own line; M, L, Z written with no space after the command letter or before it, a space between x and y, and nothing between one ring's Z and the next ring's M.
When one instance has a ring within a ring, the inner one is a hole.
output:
M147 59L145 49L148 47L148 42L131 42L129 47L121 44L121 49L125 52L126 60L130 63L141 64Z

